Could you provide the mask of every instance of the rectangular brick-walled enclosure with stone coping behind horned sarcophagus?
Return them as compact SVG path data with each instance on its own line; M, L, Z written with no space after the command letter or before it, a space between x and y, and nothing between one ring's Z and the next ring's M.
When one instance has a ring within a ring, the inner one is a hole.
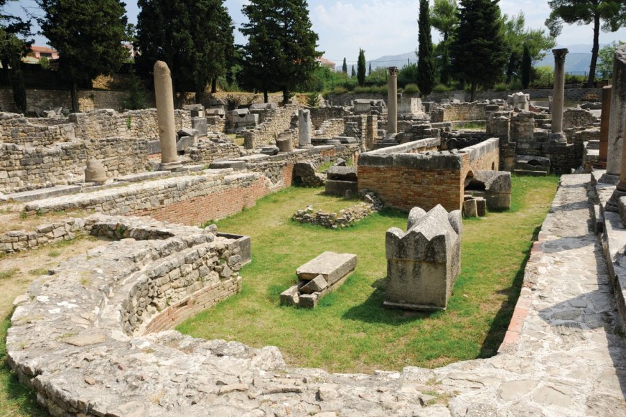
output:
M460 151L415 153L438 142L422 139L361 154L359 191L373 191L385 206L405 211L416 206L430 210L437 204L447 211L459 210L467 174L471 170L498 169L498 139Z

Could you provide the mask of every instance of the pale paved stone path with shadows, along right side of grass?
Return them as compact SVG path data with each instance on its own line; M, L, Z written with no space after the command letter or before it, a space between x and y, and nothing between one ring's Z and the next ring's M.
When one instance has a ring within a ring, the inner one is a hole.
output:
M479 361L435 370L445 384L449 368L465 368L453 381L479 388L452 400L453 414L626 416L626 343L602 247L588 226L589 180L562 177L501 354L469 373Z

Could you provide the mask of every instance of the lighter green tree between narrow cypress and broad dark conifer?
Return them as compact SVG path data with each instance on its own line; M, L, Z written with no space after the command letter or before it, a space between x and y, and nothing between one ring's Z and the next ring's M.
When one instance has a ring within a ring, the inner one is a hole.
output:
M456 0L435 0L430 11L431 26L442 35L440 50L440 83L450 84L451 63L450 44L458 26L458 6Z

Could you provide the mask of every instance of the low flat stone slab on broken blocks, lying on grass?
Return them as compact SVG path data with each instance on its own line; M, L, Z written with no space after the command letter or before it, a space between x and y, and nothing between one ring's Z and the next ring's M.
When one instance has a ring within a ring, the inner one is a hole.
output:
M296 270L298 284L280 294L280 303L314 309L321 297L344 284L356 261L355 254L323 252Z

